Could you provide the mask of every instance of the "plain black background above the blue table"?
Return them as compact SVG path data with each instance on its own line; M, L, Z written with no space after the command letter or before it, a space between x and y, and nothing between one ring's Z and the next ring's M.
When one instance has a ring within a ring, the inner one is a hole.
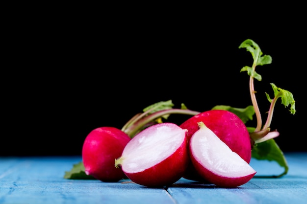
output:
M297 111L290 114L279 99L271 124L280 132L276 142L284 152L307 150L301 14L250 20L44 12L19 16L5 31L9 63L1 74L0 156L80 155L91 130L122 128L159 101L199 112L215 105L245 108L251 105L249 76L240 69L253 61L238 46L246 39L273 59L256 68L263 124L270 105L265 92L273 95L274 83L293 93ZM172 115L168 121L184 119Z

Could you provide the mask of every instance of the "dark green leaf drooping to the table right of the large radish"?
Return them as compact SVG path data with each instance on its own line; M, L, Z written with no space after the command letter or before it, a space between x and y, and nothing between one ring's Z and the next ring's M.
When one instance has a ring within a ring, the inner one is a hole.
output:
M281 177L288 173L289 166L287 160L274 139L256 144L252 150L252 157L258 160L275 161L284 168L283 173L273 177Z

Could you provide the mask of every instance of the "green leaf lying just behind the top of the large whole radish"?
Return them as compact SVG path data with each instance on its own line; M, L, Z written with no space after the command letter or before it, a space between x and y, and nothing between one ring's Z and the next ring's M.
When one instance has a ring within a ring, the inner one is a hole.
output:
M253 120L255 114L254 106L247 106L246 108L233 108L230 106L218 105L214 106L212 110L226 110L236 114L244 123Z

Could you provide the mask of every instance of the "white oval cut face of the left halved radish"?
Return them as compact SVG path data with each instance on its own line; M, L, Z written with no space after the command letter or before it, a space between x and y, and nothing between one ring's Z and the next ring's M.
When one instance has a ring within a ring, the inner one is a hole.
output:
M164 124L155 129L145 129L126 145L121 164L127 173L141 172L172 155L182 144L186 130Z

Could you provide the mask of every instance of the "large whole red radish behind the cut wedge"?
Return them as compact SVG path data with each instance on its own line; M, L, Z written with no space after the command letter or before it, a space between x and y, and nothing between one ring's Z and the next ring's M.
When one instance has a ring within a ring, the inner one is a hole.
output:
M245 124L236 114L225 110L209 110L190 117L180 125L181 128L188 130L188 141L198 131L199 122L204 122L233 152L246 162L250 162L252 158L251 138ZM194 181L204 181L192 163L189 164L183 177Z

